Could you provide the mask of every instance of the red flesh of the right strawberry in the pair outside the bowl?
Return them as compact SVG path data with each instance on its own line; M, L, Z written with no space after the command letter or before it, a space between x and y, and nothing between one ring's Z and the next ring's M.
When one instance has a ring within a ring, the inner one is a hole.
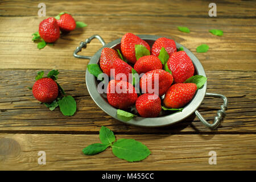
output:
M76 21L70 14L60 14L59 19L57 19L57 23L60 27L61 32L70 32L75 30L76 28ZM57 16L56 16L57 18Z

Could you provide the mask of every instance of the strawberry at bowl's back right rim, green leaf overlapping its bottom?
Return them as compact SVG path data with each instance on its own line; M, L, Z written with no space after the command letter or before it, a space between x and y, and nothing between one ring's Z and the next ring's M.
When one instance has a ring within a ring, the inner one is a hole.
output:
M158 38L156 39L156 41L154 42L151 48L151 55L159 56L159 53L162 47L166 49L169 56L171 56L172 53L177 52L177 48L174 40L167 39L167 38Z

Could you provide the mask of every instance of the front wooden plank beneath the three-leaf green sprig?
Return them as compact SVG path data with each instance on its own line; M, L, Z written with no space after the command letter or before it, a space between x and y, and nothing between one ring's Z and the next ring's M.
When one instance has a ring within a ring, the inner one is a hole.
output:
M111 148L94 156L82 148L100 142L98 135L0 134L1 170L255 170L256 135L116 135L145 144L151 155L129 163ZM5 147L3 147L5 146ZM46 152L46 165L38 152ZM216 152L216 165L209 152Z

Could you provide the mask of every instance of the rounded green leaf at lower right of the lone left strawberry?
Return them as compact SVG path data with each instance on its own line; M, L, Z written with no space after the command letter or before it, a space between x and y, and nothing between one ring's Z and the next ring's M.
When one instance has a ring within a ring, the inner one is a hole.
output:
M58 101L63 115L73 115L76 112L76 101L72 96L64 96Z

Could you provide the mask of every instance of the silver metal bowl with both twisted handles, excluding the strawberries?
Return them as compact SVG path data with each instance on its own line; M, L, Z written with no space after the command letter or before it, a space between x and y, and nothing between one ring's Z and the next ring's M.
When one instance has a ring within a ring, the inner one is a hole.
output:
M141 39L145 40L150 47L155 42L156 39L160 38L160 36L155 35L137 35ZM114 40L113 42L110 42L108 44L105 43L105 41L101 38L99 35L93 35L90 38L86 39L85 42L81 42L80 46L77 47L73 53L73 56L81 59L89 59L89 64L98 64L100 61L101 51L102 48L100 48L94 56L81 56L77 55L78 52L81 51L82 48L86 48L86 45L90 43L92 39L98 39L103 47L109 47L114 49L121 49L121 38ZM175 42L176 43L176 42ZM179 43L176 43L176 47L180 48L183 47L184 51L187 53L187 55L191 58L193 65L195 67L195 75L202 75L205 76L204 68L201 65L200 61L197 59L195 55L189 49L185 48ZM189 117L189 115L195 113L197 117L199 117L200 121L204 123L205 126L209 127L209 129L216 129L216 127L220 124L222 117L225 115L225 110L227 109L228 100L225 96L222 96L221 94L213 94L213 93L206 93L207 90L207 82L205 82L203 88L196 91L195 96L192 98L192 100L184 107L184 109L181 112L170 114L170 115L164 115L162 117L156 117L156 118L142 118L142 117L134 117L130 121L122 121L122 119L119 119L117 117L117 109L115 109L113 106L111 106L103 94L100 94L97 92L97 78L94 77L92 74L88 72L88 69L86 70L86 86L89 91L90 96L94 100L94 102L105 111L105 113L111 115L113 118L118 119L121 122L128 123L131 125L136 126L147 126L147 127L160 127L160 126L167 126L172 125L174 123L180 122L183 119ZM220 97L224 100L224 104L221 105L221 109L217 111L217 116L214 118L213 123L209 123L205 121L203 116L197 111L199 106L204 100L205 96L210 97Z

